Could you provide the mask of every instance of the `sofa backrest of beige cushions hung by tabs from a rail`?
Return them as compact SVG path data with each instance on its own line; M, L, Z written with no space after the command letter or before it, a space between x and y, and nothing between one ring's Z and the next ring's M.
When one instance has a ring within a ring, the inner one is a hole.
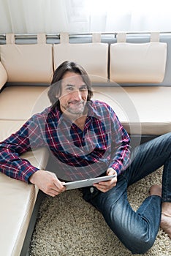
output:
M89 41L84 37L74 41L61 33L58 42L49 43L45 34L38 34L37 42L18 44L13 34L7 34L5 44L0 45L1 64L9 83L49 84L56 67L69 60L83 65L91 81L102 86L107 81L121 86L171 85L170 35L153 33L155 39L149 34L117 35L102 39L101 34L93 34Z

